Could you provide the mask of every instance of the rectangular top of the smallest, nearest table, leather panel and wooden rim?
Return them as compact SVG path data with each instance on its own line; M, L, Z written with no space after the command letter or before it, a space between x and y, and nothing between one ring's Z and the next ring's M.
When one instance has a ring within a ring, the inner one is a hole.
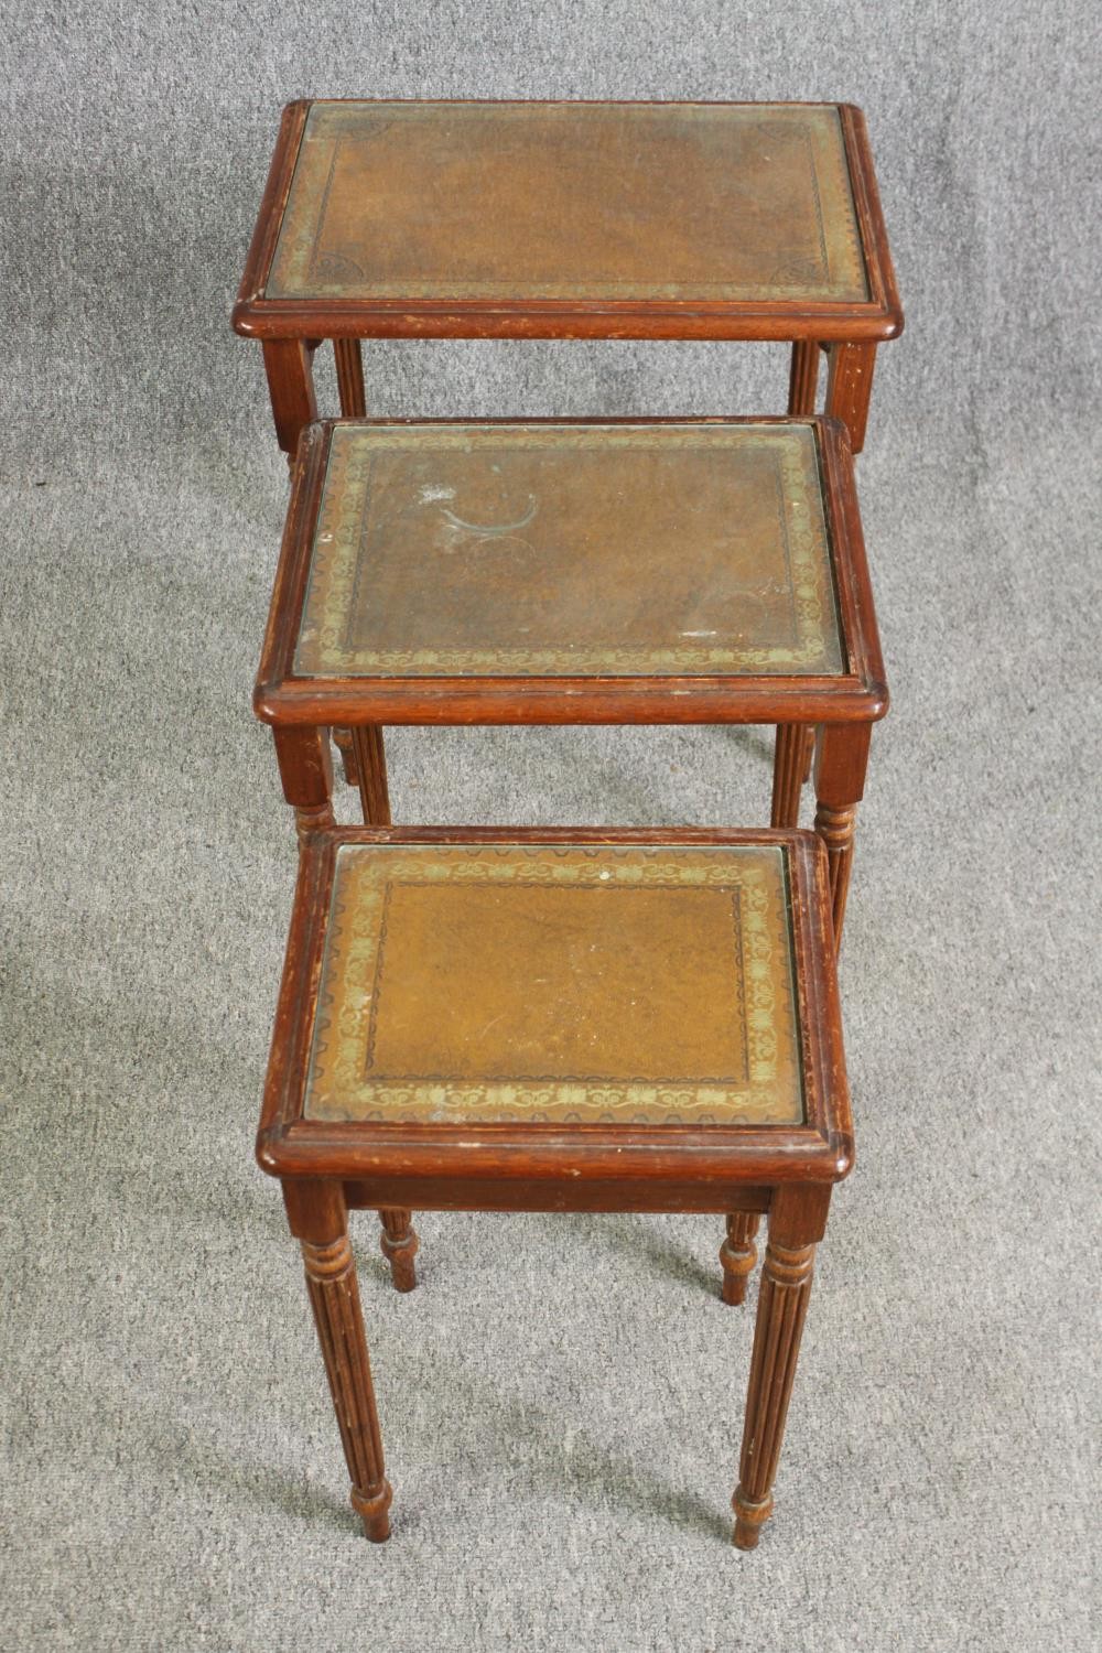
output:
M345 1146L522 1126L815 1149L844 1106L826 911L811 833L314 835L266 1126Z

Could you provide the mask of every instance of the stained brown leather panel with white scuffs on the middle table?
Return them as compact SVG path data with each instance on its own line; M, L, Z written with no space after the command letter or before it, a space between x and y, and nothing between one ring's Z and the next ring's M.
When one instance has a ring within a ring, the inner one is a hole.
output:
M843 663L810 425L332 433L301 676Z

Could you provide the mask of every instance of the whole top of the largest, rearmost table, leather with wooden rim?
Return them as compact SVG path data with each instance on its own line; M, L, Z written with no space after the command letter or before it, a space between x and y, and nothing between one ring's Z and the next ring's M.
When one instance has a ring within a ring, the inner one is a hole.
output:
M727 337L770 316L791 337L805 312L821 339L899 331L859 111L291 106L235 326L494 334L557 312L568 332L585 312L583 331L615 336L625 311L691 309Z

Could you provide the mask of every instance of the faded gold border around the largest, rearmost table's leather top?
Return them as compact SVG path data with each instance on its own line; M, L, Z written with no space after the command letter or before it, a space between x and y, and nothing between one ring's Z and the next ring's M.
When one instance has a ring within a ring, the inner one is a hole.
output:
M400 121L425 121L446 116L448 121L514 119L527 121L532 111L565 121L644 121L696 119L762 126L775 121L793 126L806 142L811 195L818 215L821 279L808 279L801 271L795 279L785 266L767 281L727 283L694 281L639 286L629 281L600 279L593 283L555 281L540 286L532 281L372 281L350 260L329 256L317 268L321 230L329 205L329 188L340 144L363 142L375 131ZM841 119L834 104L486 104L486 102L316 102L311 106L291 192L279 226L279 238L266 284L268 298L334 298L334 299L730 299L755 302L791 299L806 302L869 301L869 284L857 210L853 198Z

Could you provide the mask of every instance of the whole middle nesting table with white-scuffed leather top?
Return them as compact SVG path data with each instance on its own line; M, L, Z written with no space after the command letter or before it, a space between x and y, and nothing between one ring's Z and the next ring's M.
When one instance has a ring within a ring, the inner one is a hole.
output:
M795 826L818 726L841 936L887 709L844 428L314 425L254 706L307 826L329 810L332 726L352 729L365 820L390 823L388 722L777 724L772 825Z

